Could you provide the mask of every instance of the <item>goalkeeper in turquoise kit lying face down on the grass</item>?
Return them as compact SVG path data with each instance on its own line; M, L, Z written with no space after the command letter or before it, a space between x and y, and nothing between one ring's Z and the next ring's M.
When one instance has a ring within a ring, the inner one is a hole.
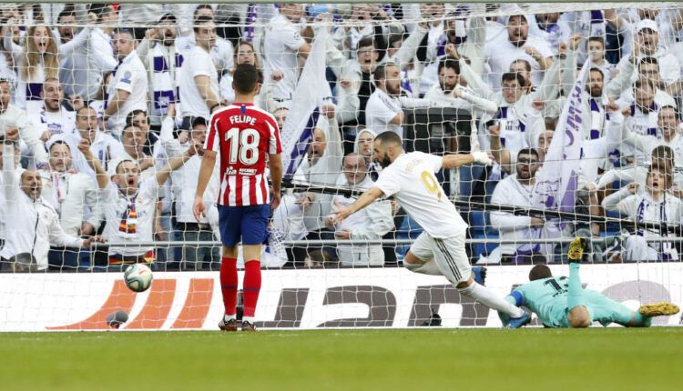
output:
M586 239L577 237L569 246L569 278L554 277L545 265L535 266L529 273L530 283L519 286L505 300L515 306L527 306L546 327L588 327L593 321L603 326L615 322L627 327L648 327L653 316L678 313L673 303L640 306L631 311L616 301L581 286L579 263ZM498 313L503 324L508 316Z

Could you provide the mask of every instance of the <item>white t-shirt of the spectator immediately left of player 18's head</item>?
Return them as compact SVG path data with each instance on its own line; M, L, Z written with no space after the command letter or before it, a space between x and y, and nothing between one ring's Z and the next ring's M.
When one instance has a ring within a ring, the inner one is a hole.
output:
M209 76L211 91L219 98L219 73L213 65L209 52L200 46L194 46L189 51L182 70L180 71L180 109L182 116L203 116L209 118L209 107L195 84L195 77Z

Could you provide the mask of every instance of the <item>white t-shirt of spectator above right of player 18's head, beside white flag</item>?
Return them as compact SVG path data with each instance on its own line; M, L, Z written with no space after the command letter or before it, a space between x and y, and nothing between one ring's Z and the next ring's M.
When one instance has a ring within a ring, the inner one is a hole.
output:
M305 43L299 35L297 25L291 23L290 19L283 15L272 18L264 40L264 78L270 80L270 75L275 71L280 71L284 75L273 87L273 98L292 99L299 75L297 52Z

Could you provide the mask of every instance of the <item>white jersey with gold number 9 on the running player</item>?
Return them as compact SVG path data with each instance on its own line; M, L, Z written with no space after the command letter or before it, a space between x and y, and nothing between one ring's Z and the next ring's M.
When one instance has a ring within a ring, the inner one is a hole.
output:
M434 175L442 165L440 156L423 152L403 154L382 170L373 185L384 195L393 195L403 210L437 239L461 236L467 229L467 223Z

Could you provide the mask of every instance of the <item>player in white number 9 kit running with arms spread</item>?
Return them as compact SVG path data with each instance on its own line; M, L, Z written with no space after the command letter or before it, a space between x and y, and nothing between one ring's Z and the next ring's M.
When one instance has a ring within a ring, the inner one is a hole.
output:
M436 156L422 152L404 153L399 135L384 132L374 140L374 158L383 170L372 188L351 206L335 212L337 221L351 216L382 196L392 196L423 227L423 234L411 246L403 265L415 273L443 275L461 295L511 317L508 327L518 328L529 321L524 310L506 302L503 296L474 281L464 250L467 223L443 192L434 176L440 169L479 163L491 165L484 152L466 155Z

